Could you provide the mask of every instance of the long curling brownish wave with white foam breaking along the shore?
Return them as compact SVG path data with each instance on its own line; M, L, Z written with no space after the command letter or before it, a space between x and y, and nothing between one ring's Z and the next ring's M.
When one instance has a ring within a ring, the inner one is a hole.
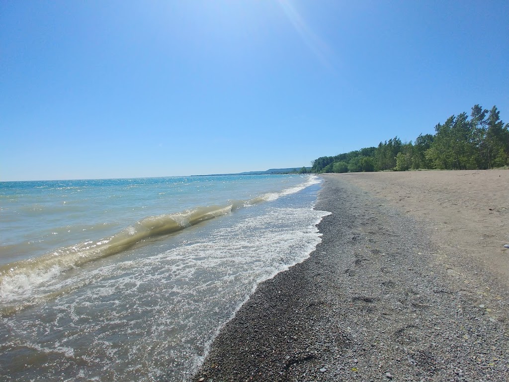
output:
M295 194L318 183L320 180L316 176L309 176L296 186L248 200L229 201L229 204L223 206L195 207L178 213L148 216L107 238L70 245L43 256L0 265L0 302L9 306L8 309L0 307L0 312L6 314L7 311L13 311L12 304L25 299L34 287L47 283L69 269L117 255L142 244L148 238L175 233L231 213L232 210L275 201L281 196ZM18 306L18 309L24 306Z

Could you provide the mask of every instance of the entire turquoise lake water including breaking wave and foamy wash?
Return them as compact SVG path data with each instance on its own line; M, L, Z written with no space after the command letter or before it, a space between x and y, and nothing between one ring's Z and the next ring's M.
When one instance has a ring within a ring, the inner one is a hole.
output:
M2 380L186 380L320 241L313 176L0 183Z

